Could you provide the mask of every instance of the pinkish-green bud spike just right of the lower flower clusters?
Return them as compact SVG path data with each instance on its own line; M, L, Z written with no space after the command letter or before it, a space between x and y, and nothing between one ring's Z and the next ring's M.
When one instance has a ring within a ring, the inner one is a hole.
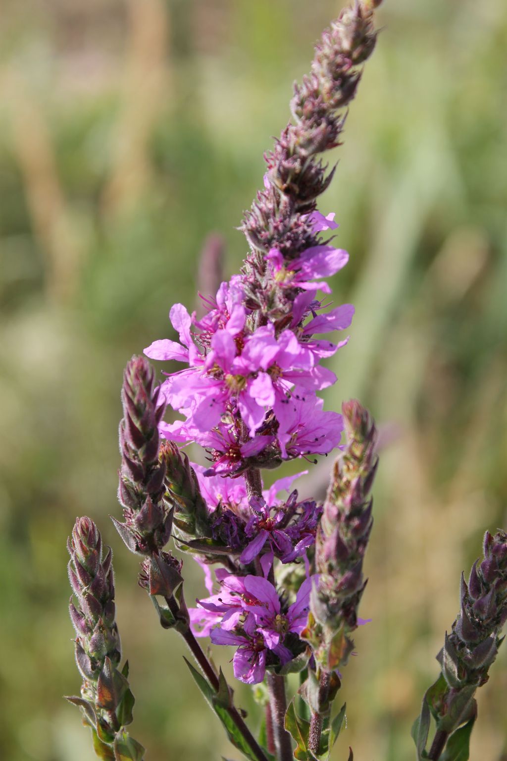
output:
M368 495L377 465L376 429L367 410L352 400L344 403L342 413L347 447L334 463L315 541L315 570L319 576L311 598L315 623L310 623L308 632L309 641L316 646L317 659L325 654L323 665L328 668L336 666L336 654L332 655L332 663L328 657L337 632L339 661L344 663L352 649L347 635L360 622L357 608L366 586L363 559L373 522L372 499Z

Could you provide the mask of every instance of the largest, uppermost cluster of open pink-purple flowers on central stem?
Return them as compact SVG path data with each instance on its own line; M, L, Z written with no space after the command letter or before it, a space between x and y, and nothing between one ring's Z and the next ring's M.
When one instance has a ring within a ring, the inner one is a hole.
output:
M314 213L318 231L334 224ZM224 282L208 314L197 320L182 304L170 310L179 342L162 339L144 353L158 360L183 361L187 368L168 374L160 396L185 416L160 424L172 441L197 441L213 463L209 473L238 474L246 468L293 457L328 454L340 442L341 416L322 409L317 392L336 377L321 361L347 343L315 338L345 330L353 307L322 311L318 290L327 283L313 279L332 275L347 262L347 253L328 245L303 252L284 266L280 251L266 256L280 291L292 293L287 319L261 320L247 306L245 282Z

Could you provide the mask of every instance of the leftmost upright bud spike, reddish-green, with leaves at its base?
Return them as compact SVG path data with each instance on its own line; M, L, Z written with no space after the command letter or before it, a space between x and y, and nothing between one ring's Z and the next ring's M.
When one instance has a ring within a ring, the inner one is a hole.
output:
M124 730L132 721L134 696L128 686L128 664L119 670L111 549L103 557L96 525L90 518L81 517L76 518L68 552L68 578L76 600L74 603L71 597L69 610L78 635L76 663L83 677L81 698L68 700L81 708L101 758L141 761L144 748Z

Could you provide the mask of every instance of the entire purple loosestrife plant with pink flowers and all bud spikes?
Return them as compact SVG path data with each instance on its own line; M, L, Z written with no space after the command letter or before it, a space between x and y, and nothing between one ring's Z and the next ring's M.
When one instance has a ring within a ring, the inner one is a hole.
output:
M242 221L250 250L240 273L220 282L217 245L208 247L203 266L216 295L201 297L199 316L174 304L170 321L179 340L159 339L144 350L181 369L159 383L138 356L123 379L123 520L112 520L141 560L139 584L161 625L185 639L198 666L187 661L192 677L251 761L329 758L344 724L345 705L332 718L341 669L353 632L366 623L358 608L372 530L376 430L359 402L344 403L338 414L325 410L319 396L336 380L325 359L348 340L329 334L347 330L354 309L328 308L327 279L348 254L332 242L334 214L322 214L316 202L334 175L320 154L341 144L347 107L375 47L373 11L380 2L354 0L342 11L316 46L311 72L296 84L292 120L265 154L264 188ZM168 406L176 421L163 419ZM190 442L203 447L205 466L182 451ZM323 505L299 498L297 475L265 487L261 470L296 458L314 463L337 447ZM183 594L182 560L165 549L171 538L204 572L208 596L192 607ZM103 557L89 518L76 521L69 552L83 677L81 697L69 699L82 709L99 756L141 759L144 749L125 731L134 698L127 664L119 670L111 552ZM507 535L486 533L483 561L468 583L461 581L461 611L438 656L442 673L414 724L418 761L467 761L474 694L488 678L506 619ZM234 677L254 686L265 705L258 739L202 638L235 648ZM290 701L289 673L299 674L299 694ZM426 751L432 715L436 731Z

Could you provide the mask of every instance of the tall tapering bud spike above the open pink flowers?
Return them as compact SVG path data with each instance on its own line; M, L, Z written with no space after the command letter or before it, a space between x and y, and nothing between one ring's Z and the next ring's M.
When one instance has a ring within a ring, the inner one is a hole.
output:
M310 74L294 87L293 123L287 124L273 150L265 154L265 189L257 194L242 223L252 247L244 270L248 303L262 314L268 314L272 305L280 311L280 302L285 302L286 314L290 310L290 298L284 298L287 294L273 282L264 256L276 249L290 263L320 243L310 216L334 170L326 174L327 165L316 157L340 144L344 109L360 81L359 66L375 47L376 5L380 3L354 2L322 34Z

